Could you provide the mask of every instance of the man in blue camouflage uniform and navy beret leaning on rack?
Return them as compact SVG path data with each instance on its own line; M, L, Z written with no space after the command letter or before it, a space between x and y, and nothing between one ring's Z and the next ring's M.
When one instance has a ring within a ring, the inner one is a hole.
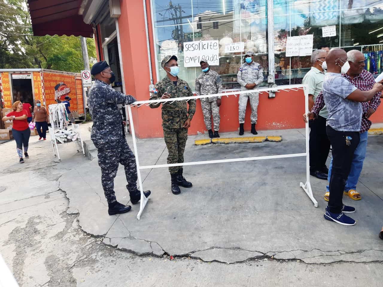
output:
M131 104L136 99L110 86L116 76L106 61L94 64L90 73L95 78L95 83L88 94L88 106L93 119L91 139L98 149L98 165L101 168L101 183L108 201L108 213L109 215L121 214L128 212L131 206L116 201L114 178L119 163L125 167L128 181L126 188L128 188L131 203L136 204L141 199L141 192L136 184L136 159L123 137L121 114L118 109L118 104ZM150 193L146 191L144 195L148 197Z

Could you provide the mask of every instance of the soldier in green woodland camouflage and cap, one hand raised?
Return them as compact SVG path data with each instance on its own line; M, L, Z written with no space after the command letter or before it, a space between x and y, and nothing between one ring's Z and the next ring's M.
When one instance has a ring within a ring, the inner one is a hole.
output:
M168 99L191 97L193 92L184 80L177 77L179 72L177 57L165 56L161 62L161 67L166 71L167 76L156 83L151 91L150 99ZM190 121L195 114L195 99L188 101L175 101L162 104L162 127L164 129L164 139L169 152L167 163L183 163L183 152L185 151L186 140L188 138L188 128ZM160 104L150 104L151 108L158 108ZM183 177L182 166L169 167L172 179L172 193L180 194L180 188L190 188L192 184Z

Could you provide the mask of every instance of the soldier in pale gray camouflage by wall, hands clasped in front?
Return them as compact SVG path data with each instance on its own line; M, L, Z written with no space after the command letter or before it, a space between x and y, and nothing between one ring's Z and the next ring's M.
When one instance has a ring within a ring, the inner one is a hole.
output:
M241 91L252 90L260 83L263 82L263 69L258 64L253 62L253 52L246 52L245 60L246 62L241 65L237 73L237 81L242 86ZM248 93L239 95L239 135L244 134L244 122L245 122L245 113L247 101L250 99L251 106L251 133L256 135L258 134L255 130L255 124L257 124L257 109L259 103L258 93Z

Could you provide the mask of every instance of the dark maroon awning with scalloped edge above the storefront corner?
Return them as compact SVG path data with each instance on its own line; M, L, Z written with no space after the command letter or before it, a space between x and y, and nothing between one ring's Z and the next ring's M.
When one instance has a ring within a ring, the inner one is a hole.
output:
M93 28L79 15L82 0L28 0L34 36L74 35L91 38Z

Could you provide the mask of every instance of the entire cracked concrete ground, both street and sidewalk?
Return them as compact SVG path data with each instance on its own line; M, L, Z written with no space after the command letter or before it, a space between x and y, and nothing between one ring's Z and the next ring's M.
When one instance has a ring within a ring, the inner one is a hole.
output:
M195 147L203 135L190 137L185 160L304 149L301 130L273 134L283 141ZM152 196L137 220L139 205L107 215L97 160L64 145L57 163L50 142L31 137L31 158L20 165L7 142L0 145L0 253L20 286L377 286L382 143L369 137L358 184L363 199L344 199L357 208L358 222L342 227L322 217L324 181L311 177L317 209L299 188L303 158L190 166L185 177L193 188L179 196L169 191L167 169L143 170ZM137 144L142 165L166 163L162 139ZM116 195L128 203L125 181L120 168Z

